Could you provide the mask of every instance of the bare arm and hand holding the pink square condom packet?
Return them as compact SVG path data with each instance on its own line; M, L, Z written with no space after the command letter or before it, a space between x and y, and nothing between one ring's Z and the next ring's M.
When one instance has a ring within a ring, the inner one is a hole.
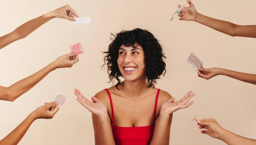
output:
M49 64L47 67L44 67L42 70L39 70L37 73L30 75L27 78L24 78L15 84L12 84L10 87L0 86L0 100L5 101L15 101L23 93L26 93L39 81L41 81L46 75L57 68L62 67L72 67L77 61L79 61L78 56L74 60L68 60L69 57L76 55L75 53L70 53L63 55Z

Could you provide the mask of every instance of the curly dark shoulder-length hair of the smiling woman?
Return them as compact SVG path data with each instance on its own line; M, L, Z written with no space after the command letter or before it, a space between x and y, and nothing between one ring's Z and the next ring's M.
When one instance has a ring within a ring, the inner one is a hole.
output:
M105 53L104 65L108 66L108 77L110 82L114 84L114 79L117 80L116 89L119 90L118 85L121 83L119 79L122 76L118 64L117 58L119 55L119 48L122 45L126 47L132 46L136 48L137 44L142 46L143 51L145 52L145 69L146 69L146 78L147 78L147 87L154 87L154 84L157 83L157 79L160 78L160 75L166 73L166 64L163 61L166 57L163 54L162 46L159 44L159 41L154 37L151 32L143 29L134 29L131 31L121 31L118 34L111 35L114 37L112 43L108 46L108 51Z

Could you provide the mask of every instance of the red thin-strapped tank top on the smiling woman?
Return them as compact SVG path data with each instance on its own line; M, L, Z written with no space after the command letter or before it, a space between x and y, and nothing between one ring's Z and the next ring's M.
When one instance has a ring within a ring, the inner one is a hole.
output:
M108 89L105 89L108 93L110 104L111 104L111 126L113 137L115 140L116 145L149 145L153 132L154 132L154 125L156 121L156 110L157 110L157 100L160 89L157 90L157 96L154 105L154 123L153 125L149 126L141 126L141 127L119 127L114 125L114 109L113 103L111 99L111 95Z

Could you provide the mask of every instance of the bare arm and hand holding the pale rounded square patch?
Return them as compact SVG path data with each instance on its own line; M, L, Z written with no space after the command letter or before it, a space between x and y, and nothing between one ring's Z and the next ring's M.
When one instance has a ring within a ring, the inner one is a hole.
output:
M15 128L15 130L0 140L0 145L17 145L28 131L30 125L36 119L52 119L58 110L58 104L55 102L51 102L44 106L38 107L38 109L29 114L29 116L23 122L21 122L20 125Z

